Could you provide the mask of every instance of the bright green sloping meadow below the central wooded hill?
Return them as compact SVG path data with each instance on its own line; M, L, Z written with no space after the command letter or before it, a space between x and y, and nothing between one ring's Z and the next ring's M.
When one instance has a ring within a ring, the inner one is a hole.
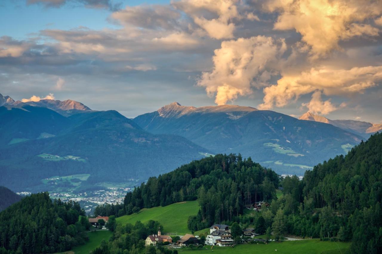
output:
M162 224L162 231L164 233L184 235L191 233L187 228L187 220L191 215L196 215L197 211L199 211L197 201L185 201L164 207L144 208L138 214L124 215L117 218L117 222L134 224L138 220L142 223L146 223L149 220L157 220Z

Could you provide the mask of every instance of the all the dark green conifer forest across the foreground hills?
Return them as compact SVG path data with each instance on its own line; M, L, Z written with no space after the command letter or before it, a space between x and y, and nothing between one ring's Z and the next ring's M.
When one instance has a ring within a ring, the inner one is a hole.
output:
M283 195L277 198L279 186L283 187ZM296 176L281 178L240 154L219 154L151 177L127 193L123 204L99 206L96 211L121 216L143 207L195 199L200 209L188 219L191 231L213 223L231 225L235 231L251 226L259 233L272 232L276 240L296 235L351 241L351 253L381 253L382 133L362 141L346 156L306 171L303 180ZM269 209L246 215L246 204L256 201L267 201ZM26 197L0 213L2 251L68 250L85 241L78 232L88 226L87 220L79 215L84 213L75 202L52 202L47 193ZM150 251L142 240L159 227L154 221L147 225L116 225L110 228L114 233L109 243L102 243L94 253Z

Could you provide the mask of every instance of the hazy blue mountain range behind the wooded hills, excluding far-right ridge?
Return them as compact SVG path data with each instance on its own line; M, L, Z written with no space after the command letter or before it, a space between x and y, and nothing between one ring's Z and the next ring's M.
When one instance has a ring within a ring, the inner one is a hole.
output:
M90 174L89 185L136 185L217 153L241 153L280 174L301 175L364 137L331 123L235 105L175 102L134 119L71 100L0 95L0 105L0 185L13 190L42 191L43 179L73 174Z

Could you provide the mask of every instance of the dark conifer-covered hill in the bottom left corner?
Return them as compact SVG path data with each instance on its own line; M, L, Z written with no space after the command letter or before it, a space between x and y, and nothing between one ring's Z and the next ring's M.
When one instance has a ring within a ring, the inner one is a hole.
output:
M78 203L32 194L0 213L0 253L68 251L85 243L90 226Z

